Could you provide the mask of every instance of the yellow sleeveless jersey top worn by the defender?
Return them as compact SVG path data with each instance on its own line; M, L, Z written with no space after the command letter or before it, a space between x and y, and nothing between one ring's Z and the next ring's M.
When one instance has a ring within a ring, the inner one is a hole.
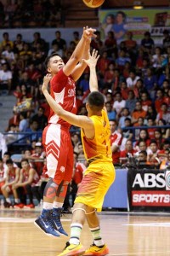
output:
M87 160L99 159L99 161L111 161L111 129L109 119L105 110L102 110L102 115L93 115L90 117L94 123L95 136L94 139L85 137L81 130L82 146L84 155Z

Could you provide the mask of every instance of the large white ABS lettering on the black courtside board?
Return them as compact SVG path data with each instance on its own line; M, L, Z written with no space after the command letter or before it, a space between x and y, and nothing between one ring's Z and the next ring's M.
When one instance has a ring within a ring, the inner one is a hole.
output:
M170 190L170 171L166 173L144 173L141 175L137 173L134 181L133 188L139 186L139 188L165 188Z

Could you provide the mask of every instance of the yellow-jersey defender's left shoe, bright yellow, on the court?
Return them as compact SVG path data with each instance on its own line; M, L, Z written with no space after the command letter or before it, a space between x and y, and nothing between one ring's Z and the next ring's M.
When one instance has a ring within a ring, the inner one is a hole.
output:
M82 244L70 244L69 241L66 242L65 250L63 253L60 253L58 256L80 256L85 252Z

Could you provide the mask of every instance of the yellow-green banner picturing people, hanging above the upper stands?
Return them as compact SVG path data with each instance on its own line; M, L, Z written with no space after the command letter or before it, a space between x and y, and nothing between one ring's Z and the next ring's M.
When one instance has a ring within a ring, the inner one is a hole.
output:
M118 41L125 39L127 31L133 32L133 39L140 42L144 32L149 31L156 44L161 44L164 29L170 30L169 9L106 9L99 10L102 38L107 32L115 32Z

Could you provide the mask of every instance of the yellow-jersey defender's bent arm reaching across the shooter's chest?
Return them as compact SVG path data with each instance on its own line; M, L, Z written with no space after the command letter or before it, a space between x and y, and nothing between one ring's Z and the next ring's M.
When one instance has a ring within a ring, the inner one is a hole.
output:
M63 109L59 104L57 104L54 101L54 98L50 96L48 93L48 82L50 81L50 79L51 79L50 74L47 74L44 77L43 84L42 84L42 93L46 97L46 100L50 108L53 109L54 113L56 113L61 119L64 119L66 122L68 122L71 125L76 125L77 127L81 127L85 130L93 129L94 123L87 116L76 115L74 113L65 111L65 109Z

